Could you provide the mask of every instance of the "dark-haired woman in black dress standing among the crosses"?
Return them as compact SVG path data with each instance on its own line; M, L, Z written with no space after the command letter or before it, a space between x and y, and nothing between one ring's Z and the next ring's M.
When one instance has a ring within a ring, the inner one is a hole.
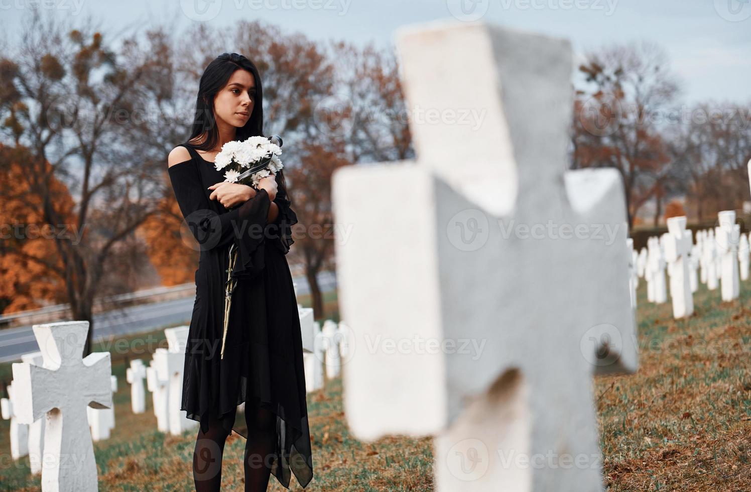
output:
M224 183L213 158L230 140L263 134L258 69L245 56L223 53L198 87L187 142L170 152L167 172L200 258L196 297L185 349L182 410L201 423L193 454L196 490L219 490L225 439L247 439L245 490L266 490L270 473L289 488L290 472L303 487L313 475L300 318L285 254L294 241L282 171L258 190ZM225 281L234 243L237 278L224 358ZM237 418L245 405L245 424Z

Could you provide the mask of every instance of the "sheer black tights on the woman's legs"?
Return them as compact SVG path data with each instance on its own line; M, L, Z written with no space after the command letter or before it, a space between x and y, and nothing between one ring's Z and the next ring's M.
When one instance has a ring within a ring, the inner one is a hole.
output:
M248 425L248 440L245 443L246 492L266 490L271 474L271 460L276 448L276 415L256 403L246 403L245 421ZM193 481L196 492L215 492L222 484L222 454L228 432L222 421L210 420L206 433L198 428L198 437L193 452Z

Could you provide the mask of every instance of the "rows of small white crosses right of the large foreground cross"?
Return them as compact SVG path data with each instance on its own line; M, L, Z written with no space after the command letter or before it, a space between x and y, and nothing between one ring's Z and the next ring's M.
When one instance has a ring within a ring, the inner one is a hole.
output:
M667 267L674 318L692 314L699 279L709 290L721 286L722 300L734 300L740 295L739 280L749 277L749 236L740 233L734 211L722 211L718 219L716 228L697 231L694 244L686 217L671 217L668 232L648 238L636 258L636 271L647 281L647 300L653 303L667 301Z

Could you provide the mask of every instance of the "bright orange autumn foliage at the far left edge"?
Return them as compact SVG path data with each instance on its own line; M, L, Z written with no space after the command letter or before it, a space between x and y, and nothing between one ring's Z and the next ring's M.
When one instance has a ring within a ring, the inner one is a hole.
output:
M73 198L51 174L51 207L65 223L53 228L45 221L40 195L26 176L24 162L30 158L23 147L0 144L0 310L5 314L65 302L65 270L55 238L77 237ZM47 162L45 170L50 171Z

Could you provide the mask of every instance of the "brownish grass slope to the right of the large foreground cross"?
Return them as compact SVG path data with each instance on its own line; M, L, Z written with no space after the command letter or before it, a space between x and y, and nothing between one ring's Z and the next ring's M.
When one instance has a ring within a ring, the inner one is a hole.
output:
M740 299L699 284L695 312L638 289L639 370L599 376L605 484L620 490L751 490L751 281Z

